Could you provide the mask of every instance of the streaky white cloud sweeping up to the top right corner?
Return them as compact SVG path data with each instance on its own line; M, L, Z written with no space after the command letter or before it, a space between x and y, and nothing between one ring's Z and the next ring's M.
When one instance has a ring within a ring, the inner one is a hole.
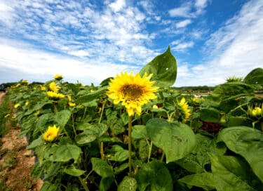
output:
M233 75L245 77L263 60L263 2L249 1L233 18L227 20L205 43L205 60L186 65L187 77L177 78L176 86L224 83ZM180 68L179 68L180 69ZM178 72L180 70L178 69Z

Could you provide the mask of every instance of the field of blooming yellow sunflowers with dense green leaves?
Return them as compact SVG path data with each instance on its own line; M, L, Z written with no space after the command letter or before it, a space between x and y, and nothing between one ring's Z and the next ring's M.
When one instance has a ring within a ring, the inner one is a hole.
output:
M263 190L263 104L231 80L195 98L173 88L168 50L100 86L22 80L8 88L47 190ZM257 84L258 85L258 84Z

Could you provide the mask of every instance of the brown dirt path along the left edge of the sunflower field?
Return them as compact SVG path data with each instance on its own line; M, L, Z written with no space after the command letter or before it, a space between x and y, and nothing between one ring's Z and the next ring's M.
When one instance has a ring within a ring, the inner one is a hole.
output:
M0 104L4 95L0 92ZM19 128L10 126L0 138L0 191L37 191L43 184L30 176L35 157L31 150L26 150L26 138L18 138L19 134Z

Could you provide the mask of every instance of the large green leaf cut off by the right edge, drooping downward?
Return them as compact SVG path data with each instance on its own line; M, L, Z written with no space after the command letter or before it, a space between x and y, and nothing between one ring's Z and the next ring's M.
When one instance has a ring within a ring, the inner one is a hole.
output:
M224 141L230 150L240 154L250 164L252 171L263 182L263 133L247 126L223 129L218 141Z

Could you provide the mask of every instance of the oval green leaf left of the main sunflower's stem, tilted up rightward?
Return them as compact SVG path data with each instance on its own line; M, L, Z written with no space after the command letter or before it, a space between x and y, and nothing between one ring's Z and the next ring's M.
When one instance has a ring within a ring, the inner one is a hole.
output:
M93 142L97 138L100 138L106 131L108 127L105 124L94 124L86 126L86 129L76 135L75 140L79 145Z

